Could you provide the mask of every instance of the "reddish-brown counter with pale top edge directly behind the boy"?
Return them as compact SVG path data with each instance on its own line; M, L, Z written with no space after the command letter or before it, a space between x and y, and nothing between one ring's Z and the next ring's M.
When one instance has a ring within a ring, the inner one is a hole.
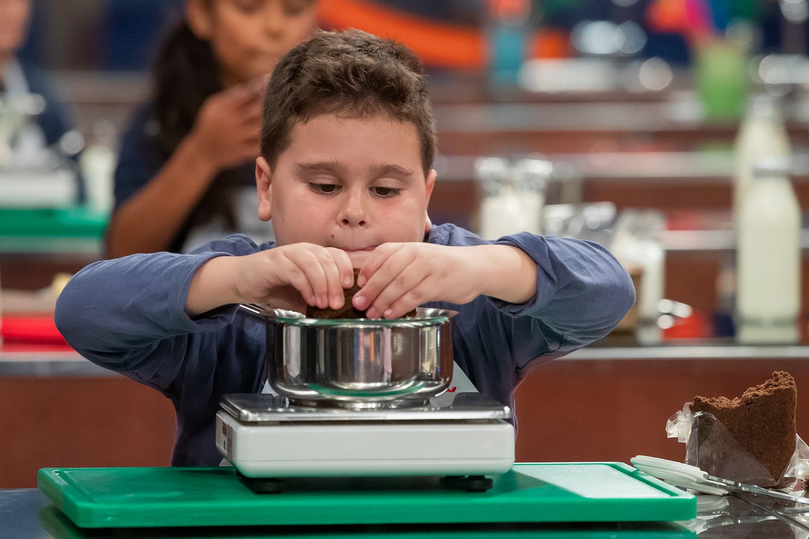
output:
M516 391L518 461L682 460L666 420L695 395L735 397L786 370L809 391L809 347L683 343L591 346L536 364ZM0 430L11 433L0 488L36 485L44 467L168 465L172 402L64 347L0 351ZM798 433L809 415L798 410Z

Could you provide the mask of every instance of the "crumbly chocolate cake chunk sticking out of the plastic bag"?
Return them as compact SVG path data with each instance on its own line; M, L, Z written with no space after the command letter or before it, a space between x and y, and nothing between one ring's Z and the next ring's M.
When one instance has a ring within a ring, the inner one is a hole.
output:
M778 371L765 383L746 390L739 398L695 397L691 411L714 415L777 482L795 450L797 403L794 378L790 373ZM705 423L705 427L709 424ZM701 436L707 434L701 433Z

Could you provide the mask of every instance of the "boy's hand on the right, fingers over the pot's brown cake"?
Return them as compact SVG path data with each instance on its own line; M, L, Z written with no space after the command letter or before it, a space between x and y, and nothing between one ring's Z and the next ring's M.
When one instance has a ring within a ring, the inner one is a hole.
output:
M474 256L470 247L383 243L362 264L354 307L368 318L400 318L428 301L468 303L483 293Z

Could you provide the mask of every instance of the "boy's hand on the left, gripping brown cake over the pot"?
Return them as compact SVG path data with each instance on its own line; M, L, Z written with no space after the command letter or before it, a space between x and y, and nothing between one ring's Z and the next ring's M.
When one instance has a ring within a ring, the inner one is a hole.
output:
M340 309L343 288L354 285L354 267L345 251L313 243L293 243L239 258L235 290L242 302L281 307L290 287L318 309Z

